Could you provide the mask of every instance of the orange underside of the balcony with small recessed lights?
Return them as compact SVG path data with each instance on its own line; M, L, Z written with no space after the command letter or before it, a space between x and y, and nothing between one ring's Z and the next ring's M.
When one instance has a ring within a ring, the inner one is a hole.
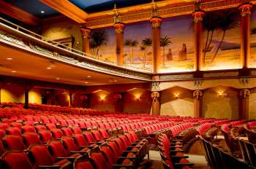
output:
M102 85L141 83L108 74L101 74L65 63L52 63L51 60L23 52L16 48L0 45L0 75L37 79L75 85ZM12 58L11 60L7 58ZM48 69L50 67L50 69Z

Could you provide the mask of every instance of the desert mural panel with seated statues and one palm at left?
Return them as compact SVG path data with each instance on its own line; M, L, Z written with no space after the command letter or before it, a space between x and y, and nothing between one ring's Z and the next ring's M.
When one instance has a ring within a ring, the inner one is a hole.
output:
M160 72L194 71L192 16L163 20L161 36Z

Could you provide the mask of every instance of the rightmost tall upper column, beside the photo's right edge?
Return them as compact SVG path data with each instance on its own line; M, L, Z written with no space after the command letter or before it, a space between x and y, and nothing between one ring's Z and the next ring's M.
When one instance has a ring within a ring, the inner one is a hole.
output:
M240 10L240 39L241 39L241 49L240 57L242 68L248 68L249 58L251 56L251 15L252 15L253 5L250 3L241 4Z

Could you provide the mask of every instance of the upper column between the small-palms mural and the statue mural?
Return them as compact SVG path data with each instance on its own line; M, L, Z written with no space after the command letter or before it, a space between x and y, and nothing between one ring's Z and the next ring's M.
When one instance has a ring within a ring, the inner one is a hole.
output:
M161 63L161 55L160 55L160 36L161 36L161 24L162 18L161 17L152 17L152 67L153 73L157 73L159 71L159 66Z

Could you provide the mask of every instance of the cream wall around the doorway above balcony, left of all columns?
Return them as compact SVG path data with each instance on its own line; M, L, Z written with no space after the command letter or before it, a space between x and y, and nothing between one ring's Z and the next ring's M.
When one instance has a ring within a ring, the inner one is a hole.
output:
M71 36L74 36L74 48L77 50L83 50L80 25L72 20L44 24L42 26L42 36L48 37L51 40L70 38Z

